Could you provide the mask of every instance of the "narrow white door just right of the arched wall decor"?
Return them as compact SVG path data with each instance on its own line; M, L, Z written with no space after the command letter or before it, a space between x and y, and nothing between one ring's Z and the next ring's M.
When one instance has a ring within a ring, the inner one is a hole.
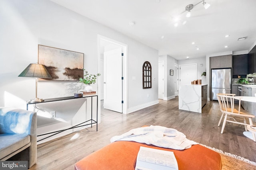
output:
M164 61L158 62L158 99L164 99Z

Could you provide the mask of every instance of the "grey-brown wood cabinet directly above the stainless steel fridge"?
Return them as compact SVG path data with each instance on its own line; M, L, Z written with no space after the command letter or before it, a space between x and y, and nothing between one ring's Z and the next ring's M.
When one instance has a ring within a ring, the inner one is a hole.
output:
M211 68L232 68L232 55L210 57Z

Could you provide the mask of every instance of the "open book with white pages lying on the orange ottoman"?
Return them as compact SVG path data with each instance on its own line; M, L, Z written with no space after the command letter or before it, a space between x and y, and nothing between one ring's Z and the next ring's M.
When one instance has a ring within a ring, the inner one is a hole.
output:
M178 163L171 151L140 147L135 170L178 170Z

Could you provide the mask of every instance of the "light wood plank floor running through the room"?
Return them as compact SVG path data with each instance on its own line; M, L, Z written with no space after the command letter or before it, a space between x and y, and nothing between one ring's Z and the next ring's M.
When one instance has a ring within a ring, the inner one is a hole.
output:
M208 101L201 113L178 109L178 97L159 104L121 114L102 109L101 123L60 139L38 145L37 164L30 170L74 170L74 164L88 154L108 145L110 138L143 125L161 125L177 129L188 139L242 156L256 162L256 143L244 137L244 126L226 123L224 133L218 127L218 102ZM77 137L72 140L72 137Z

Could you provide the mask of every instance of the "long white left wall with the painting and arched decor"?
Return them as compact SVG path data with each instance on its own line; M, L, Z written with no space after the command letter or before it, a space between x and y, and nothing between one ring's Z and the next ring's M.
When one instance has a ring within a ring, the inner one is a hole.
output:
M0 21L0 106L26 109L26 101L35 97L35 79L18 75L28 64L37 62L38 44L84 53L84 68L90 74L98 73L98 34L128 45L128 101L124 101L128 109L134 111L158 102L157 50L48 0L1 0ZM152 64L152 77L156 78L152 88L146 90L142 89L144 61ZM93 89L97 90L97 86L94 84ZM83 89L84 84L77 82L38 82L38 97L73 96ZM49 122L38 117L40 132L69 127L86 119L81 114L88 109L86 103L60 102L54 108L49 106L60 119ZM63 107L73 107L72 116Z

